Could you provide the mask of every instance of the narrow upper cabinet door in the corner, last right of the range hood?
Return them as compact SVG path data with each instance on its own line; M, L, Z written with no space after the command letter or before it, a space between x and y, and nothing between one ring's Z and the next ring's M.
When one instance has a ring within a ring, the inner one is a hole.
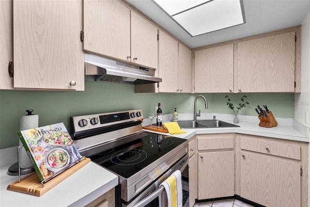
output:
M178 50L178 80L179 92L192 92L192 51L180 43Z

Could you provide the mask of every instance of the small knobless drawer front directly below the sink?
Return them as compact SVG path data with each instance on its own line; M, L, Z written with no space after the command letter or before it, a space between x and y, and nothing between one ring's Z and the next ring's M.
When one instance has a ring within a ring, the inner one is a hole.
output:
M203 137L196 135L198 150L231 149L234 147L233 136Z

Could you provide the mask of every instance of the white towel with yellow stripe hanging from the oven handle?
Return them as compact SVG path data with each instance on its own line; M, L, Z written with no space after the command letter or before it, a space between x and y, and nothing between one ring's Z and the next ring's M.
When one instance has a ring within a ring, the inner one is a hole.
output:
M167 206L168 207L182 207L183 193L182 193L181 171L176 170L160 185L165 187L165 190L167 193L167 200L168 200Z

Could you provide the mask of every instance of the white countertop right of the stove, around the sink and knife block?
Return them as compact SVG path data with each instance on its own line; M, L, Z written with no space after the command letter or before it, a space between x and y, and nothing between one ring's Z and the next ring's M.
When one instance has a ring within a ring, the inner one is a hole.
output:
M230 120L220 119L221 121L225 121L231 124L234 124ZM169 120L164 121L169 122ZM148 122L146 122L148 123ZM250 134L264 137L272 137L286 140L294 140L301 142L310 142L310 138L305 137L298 130L296 130L293 126L288 125L278 125L276 127L260 127L258 123L253 122L239 122L238 125L240 127L221 127L221 128L182 128L183 131L186 131L185 134L171 135L174 137L189 139L195 134L212 134L212 133L240 133L240 134ZM145 130L149 132L154 132L150 130ZM156 132L158 133L158 132ZM165 133L161 133L165 134Z

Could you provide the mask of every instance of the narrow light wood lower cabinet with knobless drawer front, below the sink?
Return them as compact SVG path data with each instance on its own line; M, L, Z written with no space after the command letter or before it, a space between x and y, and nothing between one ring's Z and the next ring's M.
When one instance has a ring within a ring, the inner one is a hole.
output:
M234 133L196 135L198 199L234 195Z

